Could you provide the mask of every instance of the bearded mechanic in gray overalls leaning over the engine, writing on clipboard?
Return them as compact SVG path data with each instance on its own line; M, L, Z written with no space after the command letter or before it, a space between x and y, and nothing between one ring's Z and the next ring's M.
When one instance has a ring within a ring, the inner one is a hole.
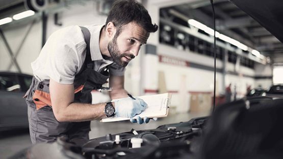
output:
M105 25L53 33L32 63L34 78L26 93L32 143L65 136L82 145L89 140L90 120L132 118L144 111L147 104L124 90L124 69L157 30L141 4L124 0L112 6ZM91 104L90 92L104 89L108 78L111 99L127 98Z

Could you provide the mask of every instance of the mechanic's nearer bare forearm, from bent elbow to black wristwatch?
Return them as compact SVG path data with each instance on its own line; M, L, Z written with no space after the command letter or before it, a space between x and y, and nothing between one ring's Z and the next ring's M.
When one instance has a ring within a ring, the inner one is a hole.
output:
M60 122L80 122L101 119L106 117L104 113L105 105L106 103L71 103L66 108L59 109L55 113L55 116Z

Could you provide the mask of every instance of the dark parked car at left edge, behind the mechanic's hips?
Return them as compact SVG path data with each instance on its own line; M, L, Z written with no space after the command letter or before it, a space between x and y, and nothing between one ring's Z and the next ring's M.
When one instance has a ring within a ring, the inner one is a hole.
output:
M32 75L0 72L0 131L28 127L28 109L23 98Z

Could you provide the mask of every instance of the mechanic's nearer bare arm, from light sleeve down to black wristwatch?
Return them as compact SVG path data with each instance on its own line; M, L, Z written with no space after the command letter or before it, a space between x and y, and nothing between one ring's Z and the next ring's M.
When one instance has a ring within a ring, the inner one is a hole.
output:
M106 117L106 103L74 103L73 84L59 84L50 79L49 91L55 118L60 122L89 121ZM114 102L112 104L114 105Z

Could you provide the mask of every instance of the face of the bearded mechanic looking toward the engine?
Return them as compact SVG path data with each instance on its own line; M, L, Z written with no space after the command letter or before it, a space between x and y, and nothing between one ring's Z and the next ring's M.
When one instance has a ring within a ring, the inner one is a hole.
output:
M125 67L138 56L140 47L149 37L141 26L134 22L124 25L118 36L114 36L108 43L108 50L113 61L119 66Z

